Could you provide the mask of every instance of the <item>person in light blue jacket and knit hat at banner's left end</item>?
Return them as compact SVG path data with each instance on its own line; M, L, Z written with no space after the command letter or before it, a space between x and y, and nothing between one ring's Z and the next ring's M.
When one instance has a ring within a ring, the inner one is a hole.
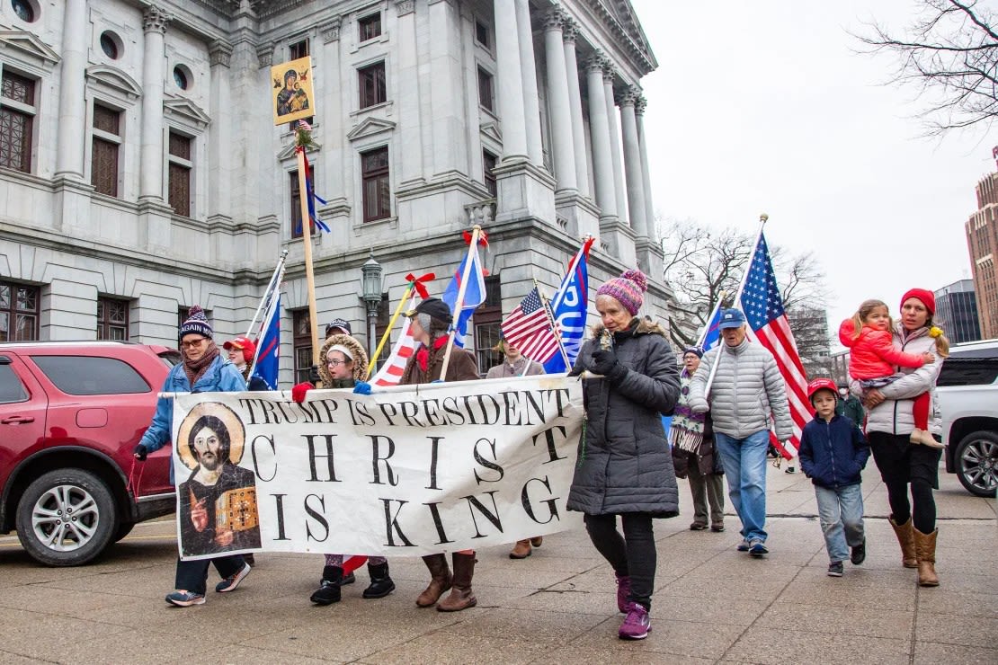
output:
M153 422L143 435L142 441L135 447L136 460L145 462L149 453L160 450L172 437L174 422L174 402L172 393L241 393L247 389L246 380L236 366L222 357L219 347L212 337L212 325L205 316L205 310L199 305L191 307L188 319L181 325L180 342L184 362L170 370L163 384L164 395L156 404ZM170 482L176 485L174 465L170 465ZM200 525L207 517L201 510L192 510L190 514L178 513L179 520L189 519L195 526ZM182 523L182 527L186 524ZM216 585L220 593L235 591L236 587L248 574L250 565L240 554L217 556L212 559L184 561L177 559L176 587L167 594L167 602L178 607L203 605L205 603L206 584L208 582L208 566L214 563L223 580Z

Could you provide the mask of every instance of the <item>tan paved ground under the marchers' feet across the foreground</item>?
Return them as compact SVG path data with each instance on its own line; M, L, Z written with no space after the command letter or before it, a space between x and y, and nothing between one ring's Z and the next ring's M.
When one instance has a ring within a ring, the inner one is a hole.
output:
M232 594L171 608L173 522L140 524L96 564L44 568L16 538L0 538L0 662L145 663L998 663L998 520L995 499L976 499L940 473L941 586L919 588L902 568L886 520L886 494L865 473L869 554L845 576L827 556L810 482L770 468L771 553L736 551L728 531L690 531L683 515L657 520L659 565L653 631L617 638L613 572L581 528L546 538L524 560L508 547L479 551L476 608L445 614L414 604L428 576L419 559L392 559L398 588L363 600L363 570L342 602L308 596L315 555L257 555ZM217 581L213 571L210 588Z

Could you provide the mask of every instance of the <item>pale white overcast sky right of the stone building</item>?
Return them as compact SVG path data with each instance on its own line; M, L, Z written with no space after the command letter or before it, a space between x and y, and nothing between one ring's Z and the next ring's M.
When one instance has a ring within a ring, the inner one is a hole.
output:
M908 25L915 0L632 0L659 62L642 80L657 216L812 249L828 323L866 298L969 278L963 223L998 133L921 138L889 56L847 31Z

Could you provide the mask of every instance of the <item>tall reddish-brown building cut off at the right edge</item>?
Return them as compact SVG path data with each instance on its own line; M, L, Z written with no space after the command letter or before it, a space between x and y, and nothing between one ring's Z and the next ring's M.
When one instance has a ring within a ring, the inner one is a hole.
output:
M998 148L993 155L998 156ZM970 267L974 272L974 291L980 333L984 339L998 337L998 172L988 173L977 183L977 211L965 224Z

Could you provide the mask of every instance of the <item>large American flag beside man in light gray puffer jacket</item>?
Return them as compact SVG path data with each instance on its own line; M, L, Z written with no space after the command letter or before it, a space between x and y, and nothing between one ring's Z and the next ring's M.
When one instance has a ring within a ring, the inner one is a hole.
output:
M789 460L800 447L800 432L811 419L807 403L807 379L800 354L797 353L793 333L783 310L783 299L776 288L776 276L772 272L769 249L765 236L759 233L755 253L752 255L749 272L742 291L742 310L746 314L749 328L759 343L769 350L776 359L776 366L786 383L786 399L790 405L790 418L793 421L793 438L785 447L774 442L780 453Z

